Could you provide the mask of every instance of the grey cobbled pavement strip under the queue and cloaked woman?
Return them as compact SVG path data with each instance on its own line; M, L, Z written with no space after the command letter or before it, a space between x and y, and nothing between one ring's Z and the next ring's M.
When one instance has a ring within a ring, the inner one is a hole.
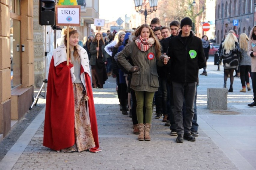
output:
M205 78L205 77L203 77ZM214 80L213 80L214 81ZM201 81L200 85L204 84ZM239 87L240 88L240 87ZM151 141L138 141L132 121L119 110L115 79L109 77L103 89L93 89L99 129L99 153L89 151L57 153L42 146L41 124L13 170L237 170L236 165L199 128L195 142L176 143L170 130L152 115ZM200 92L201 90L201 92ZM205 89L199 89L198 114L211 114ZM248 102L248 100L246 101ZM229 108L233 108L230 105ZM232 109L231 109L232 110ZM247 111L248 112L248 111ZM16 127L18 129L18 127ZM5 143L3 143L5 144ZM2 142L0 143L0 147ZM8 145L8 144L5 144ZM1 149L2 150L2 149ZM0 168L1 169L1 168Z

